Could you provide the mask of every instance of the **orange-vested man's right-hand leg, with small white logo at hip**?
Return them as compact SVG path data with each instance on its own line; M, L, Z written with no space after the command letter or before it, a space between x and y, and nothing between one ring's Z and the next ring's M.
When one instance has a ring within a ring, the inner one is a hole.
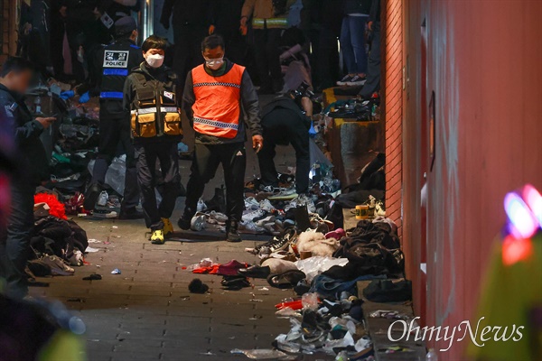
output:
M220 162L224 169L224 180L226 180L227 240L239 242L241 237L238 235L238 222L241 221L245 209L243 191L247 169L247 150L245 143L231 143L220 145L220 151Z

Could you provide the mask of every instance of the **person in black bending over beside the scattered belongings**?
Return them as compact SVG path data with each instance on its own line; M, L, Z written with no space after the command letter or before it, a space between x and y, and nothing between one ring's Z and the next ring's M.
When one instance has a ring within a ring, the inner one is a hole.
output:
M298 105L292 97L286 95L264 107L261 124L266 143L257 153L263 186L278 187L278 172L274 161L275 147L292 144L295 150L295 191L297 194L308 192L311 170L309 153L311 116L313 102L309 97L302 97Z

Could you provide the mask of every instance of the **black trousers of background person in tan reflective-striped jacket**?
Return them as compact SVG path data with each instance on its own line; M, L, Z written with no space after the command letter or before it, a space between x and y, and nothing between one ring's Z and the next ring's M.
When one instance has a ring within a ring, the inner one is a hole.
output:
M282 87L280 51L278 45L282 29L257 29L254 31L254 56L261 88Z

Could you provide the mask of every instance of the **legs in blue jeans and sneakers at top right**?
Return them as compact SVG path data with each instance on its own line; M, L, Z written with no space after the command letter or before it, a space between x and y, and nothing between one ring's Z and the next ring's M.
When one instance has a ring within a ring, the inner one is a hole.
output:
M348 74L337 85L363 85L367 73L365 25L371 0L346 0L341 26L341 51Z

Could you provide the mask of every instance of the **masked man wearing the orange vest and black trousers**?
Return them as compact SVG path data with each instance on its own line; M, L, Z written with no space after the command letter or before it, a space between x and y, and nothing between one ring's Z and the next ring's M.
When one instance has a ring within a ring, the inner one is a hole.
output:
M240 242L238 222L245 208L247 126L254 149L258 151L263 146L258 97L245 68L224 58L224 40L220 36L205 38L201 51L205 64L192 69L182 94L182 108L196 132L196 139L192 172L186 187L186 207L179 227L191 227L205 184L222 163L227 191L227 240Z

